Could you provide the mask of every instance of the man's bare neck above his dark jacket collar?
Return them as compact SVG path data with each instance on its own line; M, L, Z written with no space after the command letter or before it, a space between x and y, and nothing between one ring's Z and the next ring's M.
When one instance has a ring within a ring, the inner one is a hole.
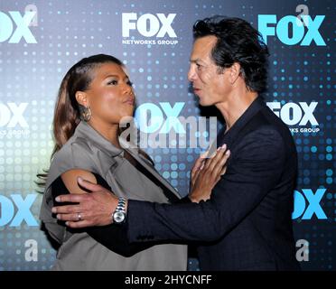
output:
M257 92L251 92L247 89L243 91L232 91L226 98L225 102L221 102L216 107L225 119L227 125L226 132L236 123L252 102L257 98Z

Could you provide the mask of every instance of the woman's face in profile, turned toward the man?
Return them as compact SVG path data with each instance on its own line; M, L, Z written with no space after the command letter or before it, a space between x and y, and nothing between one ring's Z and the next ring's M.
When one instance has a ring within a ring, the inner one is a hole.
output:
M132 117L135 95L123 67L109 62L99 65L93 73L89 89L84 92L84 106L92 114L90 121L119 125L123 117Z

